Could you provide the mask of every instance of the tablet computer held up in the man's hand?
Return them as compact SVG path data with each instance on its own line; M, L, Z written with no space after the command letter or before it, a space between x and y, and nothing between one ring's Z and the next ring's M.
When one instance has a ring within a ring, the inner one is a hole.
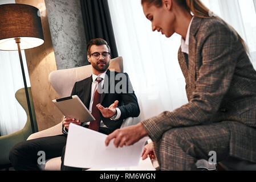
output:
M76 95L52 100L52 102L67 118L78 119L81 123L95 121L94 116Z

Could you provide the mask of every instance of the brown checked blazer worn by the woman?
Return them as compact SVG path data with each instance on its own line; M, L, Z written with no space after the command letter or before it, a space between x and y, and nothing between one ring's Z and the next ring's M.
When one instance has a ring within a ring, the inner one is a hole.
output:
M178 61L189 102L142 121L149 137L159 142L173 128L223 122L229 155L256 162L256 71L237 34L219 19L194 17L189 55L180 48Z

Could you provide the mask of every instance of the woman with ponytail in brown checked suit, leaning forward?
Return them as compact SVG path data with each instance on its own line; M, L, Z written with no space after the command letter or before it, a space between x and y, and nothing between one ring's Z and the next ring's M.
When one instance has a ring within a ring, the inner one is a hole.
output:
M128 146L149 136L153 142L143 159L154 151L161 170L194 170L210 151L217 162L233 157L256 163L256 71L241 37L198 0L141 4L152 31L182 37L178 62L189 102L114 131L105 144L115 138L116 147Z

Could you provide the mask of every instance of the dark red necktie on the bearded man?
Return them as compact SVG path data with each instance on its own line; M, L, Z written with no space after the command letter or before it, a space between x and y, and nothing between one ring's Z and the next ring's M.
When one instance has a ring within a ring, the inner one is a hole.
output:
M100 77L98 77L98 78L101 79ZM98 78L97 78L97 82L98 82L97 89L99 88L100 81L101 81L101 80L98 80ZM95 130L95 131L99 131L100 121L101 121L100 110L97 109L97 107L96 107L96 105L100 103L101 94L99 92L97 92L97 89L94 93L94 102L92 103L92 115L94 116L95 121L90 122L90 125L88 127L89 129Z

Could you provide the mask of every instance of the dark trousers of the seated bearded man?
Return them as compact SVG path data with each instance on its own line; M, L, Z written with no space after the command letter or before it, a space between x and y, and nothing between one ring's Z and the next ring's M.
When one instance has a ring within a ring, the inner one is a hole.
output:
M100 127L100 133L110 134L111 131L107 128ZM17 171L38 171L38 164L41 161L40 156L45 154L45 158L51 159L61 156L61 170L80 171L82 168L74 168L64 166L64 154L66 148L67 135L56 135L52 137L42 137L31 140L26 140L16 144L10 151L9 159L14 169ZM84 142L89 140L85 138ZM85 151L86 154L86 151Z

